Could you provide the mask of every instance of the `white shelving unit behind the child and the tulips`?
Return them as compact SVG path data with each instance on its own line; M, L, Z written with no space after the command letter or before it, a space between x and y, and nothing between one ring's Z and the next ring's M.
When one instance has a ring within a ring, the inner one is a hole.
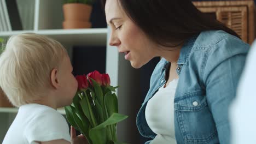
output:
M26 0L34 3L33 29L26 31L0 32L0 38L9 38L11 35L20 33L38 33L47 35L68 49L72 56L73 45L104 46L106 52L106 73L109 74L111 85L118 88L119 112L128 115L129 118L118 124L118 137L120 141L138 143L136 128L136 113L141 104L138 104L139 71L131 67L130 62L125 61L124 55L118 53L116 47L108 46L109 29L62 29L62 0ZM72 59L72 57L71 57ZM65 110L58 110L65 114ZM17 108L0 107L0 142L2 142L11 122L18 112ZM135 133L136 132L136 133Z

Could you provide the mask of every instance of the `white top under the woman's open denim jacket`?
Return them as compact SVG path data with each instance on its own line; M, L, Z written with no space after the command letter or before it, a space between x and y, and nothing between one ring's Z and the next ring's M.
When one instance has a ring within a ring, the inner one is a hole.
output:
M174 95L178 79L172 80L167 87L162 86L148 101L145 115L149 128L154 131L155 139L150 144L176 143L174 133Z

